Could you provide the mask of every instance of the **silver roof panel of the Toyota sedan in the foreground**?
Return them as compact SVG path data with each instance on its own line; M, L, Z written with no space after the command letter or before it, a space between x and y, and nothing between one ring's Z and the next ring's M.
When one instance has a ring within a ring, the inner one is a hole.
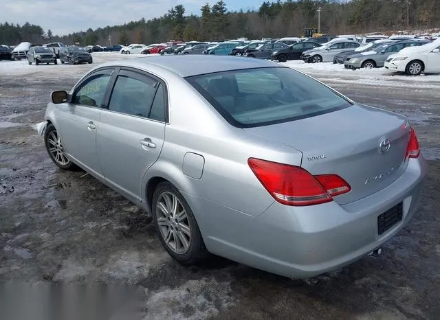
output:
M138 69L148 69L148 66L155 66L168 71L173 71L183 78L197 76L199 74L239 69L280 67L280 65L275 62L270 62L263 59L190 54L175 56L149 56L126 60L116 60L113 62L106 62L102 66L124 66Z

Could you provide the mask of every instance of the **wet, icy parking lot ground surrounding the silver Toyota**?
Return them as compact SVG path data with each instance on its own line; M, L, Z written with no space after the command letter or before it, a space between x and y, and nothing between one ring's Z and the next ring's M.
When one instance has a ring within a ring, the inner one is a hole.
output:
M93 65L0 61L0 282L131 284L145 289L144 319L439 319L439 75L285 62L409 117L428 159L420 209L382 255L303 281L216 257L181 266L148 213L85 172L56 168L35 128L50 92L71 89L100 62L136 57L93 55Z

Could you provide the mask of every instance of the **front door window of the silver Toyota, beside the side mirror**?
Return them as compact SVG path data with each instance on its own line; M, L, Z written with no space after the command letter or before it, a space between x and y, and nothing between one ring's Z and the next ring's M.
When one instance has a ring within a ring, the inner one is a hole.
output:
M72 103L100 107L104 103L110 74L98 74L85 80L76 90Z

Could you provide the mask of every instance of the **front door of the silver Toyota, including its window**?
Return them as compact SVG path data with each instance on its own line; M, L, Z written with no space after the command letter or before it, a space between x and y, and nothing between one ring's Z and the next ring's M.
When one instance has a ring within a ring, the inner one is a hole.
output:
M113 68L91 73L74 89L70 103L58 104L60 116L56 126L67 154L95 174L101 172L96 130L112 71Z

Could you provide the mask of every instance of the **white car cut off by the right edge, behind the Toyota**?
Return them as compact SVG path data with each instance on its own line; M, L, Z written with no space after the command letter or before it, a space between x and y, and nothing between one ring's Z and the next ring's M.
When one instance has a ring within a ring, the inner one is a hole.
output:
M391 71L418 76L422 72L440 72L440 39L419 47L406 47L388 56L384 67Z

